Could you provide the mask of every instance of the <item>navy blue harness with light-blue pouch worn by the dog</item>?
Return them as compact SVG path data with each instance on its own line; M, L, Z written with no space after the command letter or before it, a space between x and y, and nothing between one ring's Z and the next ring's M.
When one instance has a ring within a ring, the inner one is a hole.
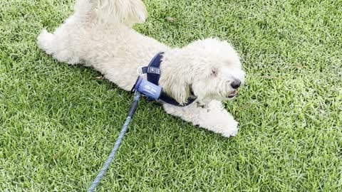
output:
M162 52L158 53L157 55L155 55L154 58L152 58L150 64L148 64L147 67L141 68L142 74L147 74L147 81L139 76L132 90L136 90L142 93L142 95L146 95L147 100L149 101L156 100L166 102L167 104L175 105L177 107L185 107L192 104L192 102L194 102L197 98L189 97L184 105L180 105L179 102L177 102L162 91L162 87L159 86L161 73L160 63L162 63L162 54Z

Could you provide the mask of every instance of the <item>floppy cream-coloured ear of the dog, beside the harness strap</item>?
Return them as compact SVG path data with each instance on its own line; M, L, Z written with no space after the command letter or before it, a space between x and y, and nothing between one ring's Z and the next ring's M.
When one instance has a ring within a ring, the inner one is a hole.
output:
M170 97L175 99L180 105L187 103L190 97L190 85L183 78L175 78L166 82L162 82L162 90Z

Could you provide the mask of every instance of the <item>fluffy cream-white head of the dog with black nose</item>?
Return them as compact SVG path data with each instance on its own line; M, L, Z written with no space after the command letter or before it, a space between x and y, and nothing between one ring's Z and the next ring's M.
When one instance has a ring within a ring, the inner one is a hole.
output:
M244 83L239 56L226 41L208 38L165 55L160 85L177 102L193 93L198 100L232 100Z

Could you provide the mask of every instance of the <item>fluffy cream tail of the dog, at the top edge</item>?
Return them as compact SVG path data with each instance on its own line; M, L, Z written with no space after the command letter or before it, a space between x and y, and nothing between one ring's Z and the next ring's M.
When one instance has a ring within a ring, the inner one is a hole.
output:
M117 21L127 25L144 23L147 18L145 4L141 0L78 0L76 14L91 15L101 22Z

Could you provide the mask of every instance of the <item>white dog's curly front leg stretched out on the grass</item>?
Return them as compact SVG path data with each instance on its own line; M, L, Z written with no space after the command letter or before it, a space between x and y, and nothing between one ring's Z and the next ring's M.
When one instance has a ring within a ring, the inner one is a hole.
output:
M237 122L231 114L224 110L222 103L216 100L209 102L207 105L194 103L187 107L176 107L164 104L165 111L177 117L181 117L187 122L199 125L204 129L222 134L224 137L232 137L237 135Z

